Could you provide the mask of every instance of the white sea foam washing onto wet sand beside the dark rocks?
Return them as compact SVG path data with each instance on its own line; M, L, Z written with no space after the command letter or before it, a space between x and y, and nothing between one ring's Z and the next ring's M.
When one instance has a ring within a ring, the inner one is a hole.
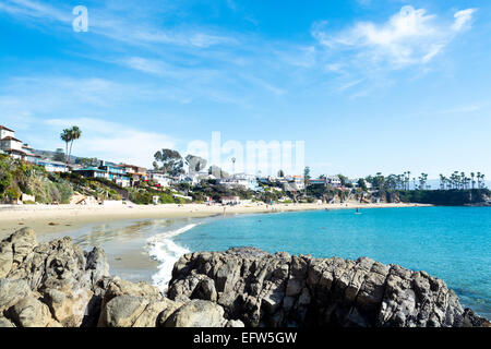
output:
M173 264L181 255L190 252L188 249L173 242L172 238L195 226L197 226L197 224L187 225L176 230L157 233L146 240L146 249L151 258L159 262L158 272L152 276L152 281L153 285L160 289L160 291L167 291L167 285L172 276Z

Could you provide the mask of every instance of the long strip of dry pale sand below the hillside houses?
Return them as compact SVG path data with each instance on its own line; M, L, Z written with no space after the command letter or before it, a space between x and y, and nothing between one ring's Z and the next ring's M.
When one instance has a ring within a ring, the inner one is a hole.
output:
M165 204L156 206L77 206L77 205L5 205L0 207L0 237L29 227L38 233L74 230L89 224L152 218L205 218L217 215L268 214L282 212L428 207L426 204L241 204L236 206L205 204Z

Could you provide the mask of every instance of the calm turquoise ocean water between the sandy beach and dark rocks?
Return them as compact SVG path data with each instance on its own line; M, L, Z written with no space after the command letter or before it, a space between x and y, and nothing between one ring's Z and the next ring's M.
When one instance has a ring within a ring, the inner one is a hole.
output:
M314 257L369 256L442 278L491 318L491 207L408 207L224 217L171 238L189 251L251 245Z

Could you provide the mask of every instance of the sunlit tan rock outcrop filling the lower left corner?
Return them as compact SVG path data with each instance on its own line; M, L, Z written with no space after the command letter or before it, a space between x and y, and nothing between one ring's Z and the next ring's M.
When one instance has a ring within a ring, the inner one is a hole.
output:
M243 326L224 313L109 277L104 251L84 252L70 238L38 244L24 228L0 242L0 327Z

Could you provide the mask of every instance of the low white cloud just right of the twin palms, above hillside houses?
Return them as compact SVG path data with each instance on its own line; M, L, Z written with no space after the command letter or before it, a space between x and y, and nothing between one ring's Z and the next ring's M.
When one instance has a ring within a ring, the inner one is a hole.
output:
M168 135L100 119L49 119L45 122L57 130L79 125L83 133L73 153L115 163L151 166L155 152L176 146L176 140Z

